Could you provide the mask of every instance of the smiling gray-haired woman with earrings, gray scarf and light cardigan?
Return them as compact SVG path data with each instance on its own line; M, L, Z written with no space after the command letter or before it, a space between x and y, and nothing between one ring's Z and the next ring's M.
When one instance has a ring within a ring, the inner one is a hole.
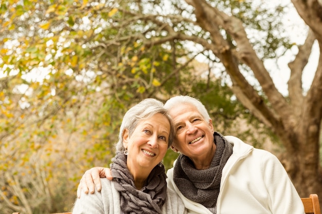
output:
M77 199L73 213L186 213L177 194L167 189L161 163L174 138L168 111L155 99L146 99L124 115L113 181L102 179L101 191Z

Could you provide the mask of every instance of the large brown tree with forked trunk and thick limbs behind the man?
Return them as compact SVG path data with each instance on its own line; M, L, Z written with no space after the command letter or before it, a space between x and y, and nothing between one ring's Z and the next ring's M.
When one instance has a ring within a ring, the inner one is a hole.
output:
M322 173L319 165L322 116L321 56L312 86L306 95L303 95L301 82L303 68L308 62L314 40L318 40L319 44L322 42L322 13L319 13L321 6L313 0L293 1L312 31L309 31L306 42L299 47L295 60L289 64L291 77L287 100L278 92L269 72L249 43L241 20L210 6L205 0L186 2L195 8L196 23L211 34L212 43L205 48L211 49L225 66L233 83L232 90L239 101L280 138L286 151L279 158L300 197L317 193L322 200ZM313 24L314 26L311 26ZM229 41L220 33L222 28L237 44L235 49L231 48ZM252 69L268 103L264 102L263 96L246 81L239 70L240 63ZM322 204L322 201L320 203Z

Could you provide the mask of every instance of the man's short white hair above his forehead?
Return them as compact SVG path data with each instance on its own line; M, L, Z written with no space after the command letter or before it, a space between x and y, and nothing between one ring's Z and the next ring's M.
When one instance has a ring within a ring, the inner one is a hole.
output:
M164 107L168 110L171 110L171 108L173 108L174 106L178 106L180 104L190 104L192 106L195 106L196 109L199 111L199 113L202 115L202 117L206 121L210 120L209 113L208 113L206 107L204 106L204 104L202 104L202 102L200 102L200 100L198 100L196 98L192 98L191 96L188 96L188 95L173 96L173 98L170 98L166 102Z

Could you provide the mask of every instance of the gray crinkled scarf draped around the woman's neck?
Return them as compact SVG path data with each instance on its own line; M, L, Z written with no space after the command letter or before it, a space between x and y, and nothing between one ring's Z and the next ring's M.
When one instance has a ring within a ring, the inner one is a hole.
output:
M166 201L166 172L162 165L155 166L141 190L134 185L134 178L127 167L127 157L118 152L110 165L115 188L120 192L121 210L128 213L161 213Z

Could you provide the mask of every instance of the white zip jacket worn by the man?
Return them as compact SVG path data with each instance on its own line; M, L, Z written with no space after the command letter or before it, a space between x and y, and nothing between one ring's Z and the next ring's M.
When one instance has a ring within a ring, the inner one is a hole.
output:
M272 153L240 139L225 136L234 145L223 168L217 214L304 214L302 201L282 164ZM168 188L183 200L188 213L211 212L178 190L173 168L167 172Z

